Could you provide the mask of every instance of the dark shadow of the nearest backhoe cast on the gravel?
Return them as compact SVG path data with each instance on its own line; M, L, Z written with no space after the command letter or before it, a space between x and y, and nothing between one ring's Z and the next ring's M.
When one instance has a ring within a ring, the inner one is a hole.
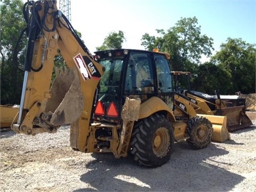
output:
M214 143L193 150L180 142L170 161L155 169L140 166L131 158L92 154L96 159L85 165L90 171L80 178L91 187L75 191L229 191L245 178L206 163L206 159L214 163L212 157L228 153Z

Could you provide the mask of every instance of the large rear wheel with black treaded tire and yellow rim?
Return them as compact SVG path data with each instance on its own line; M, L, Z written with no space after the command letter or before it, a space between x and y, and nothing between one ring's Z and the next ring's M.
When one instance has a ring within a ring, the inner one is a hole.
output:
M131 154L140 165L157 167L169 161L174 137L171 123L159 114L142 119L133 127Z

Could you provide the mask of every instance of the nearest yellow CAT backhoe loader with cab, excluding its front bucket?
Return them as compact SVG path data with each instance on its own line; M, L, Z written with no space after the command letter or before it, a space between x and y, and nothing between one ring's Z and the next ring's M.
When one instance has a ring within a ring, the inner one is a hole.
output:
M214 124L210 116L197 116L185 95L172 91L170 54L116 49L93 56L56 4L25 4L31 18L13 131L54 133L70 124L74 150L116 158L130 152L148 167L169 161L174 141L186 140L195 149L209 145ZM51 83L55 55L62 55L67 68L56 69Z

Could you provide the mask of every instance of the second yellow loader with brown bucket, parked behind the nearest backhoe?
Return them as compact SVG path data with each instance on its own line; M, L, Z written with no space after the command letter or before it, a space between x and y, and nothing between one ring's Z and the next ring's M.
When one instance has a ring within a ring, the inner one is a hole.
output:
M244 129L253 125L250 118L245 114L245 99L230 99L221 97L219 91L216 95L194 91L191 89L189 72L172 71L174 77L175 91L182 92L189 100L198 106L197 114L227 116L227 129L229 132ZM187 89L179 89L179 76L186 76Z

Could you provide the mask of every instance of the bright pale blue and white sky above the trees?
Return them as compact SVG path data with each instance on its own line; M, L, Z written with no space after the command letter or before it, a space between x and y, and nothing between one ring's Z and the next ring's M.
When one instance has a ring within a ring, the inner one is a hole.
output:
M196 17L201 33L213 38L215 51L228 37L256 43L255 0L70 0L71 23L91 52L111 31L122 30L123 48L144 49L143 34L157 35L180 18ZM59 4L59 1L58 1ZM214 53L214 52L213 52Z

